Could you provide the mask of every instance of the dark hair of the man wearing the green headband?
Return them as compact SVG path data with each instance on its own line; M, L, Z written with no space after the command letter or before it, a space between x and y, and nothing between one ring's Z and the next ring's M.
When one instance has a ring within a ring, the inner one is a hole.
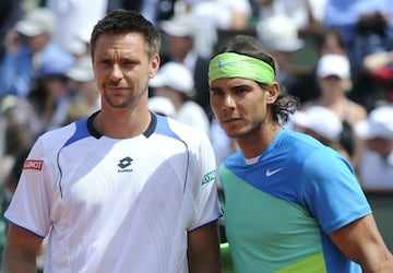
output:
M233 39L228 40L227 44L225 44L216 55L223 52L235 52L262 60L273 68L274 74L277 73L277 62L275 58L270 55L267 50L262 46L262 44L253 36L235 36ZM262 88L269 88L266 84L260 84ZM272 117L275 121L286 123L289 120L289 115L294 114L299 107L299 105L300 103L297 97L288 95L285 92L281 92L276 102L271 107Z

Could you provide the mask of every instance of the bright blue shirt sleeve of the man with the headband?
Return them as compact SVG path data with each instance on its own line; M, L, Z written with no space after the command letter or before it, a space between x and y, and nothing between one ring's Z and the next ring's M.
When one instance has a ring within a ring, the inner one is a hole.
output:
M331 149L306 159L300 180L305 203L326 234L371 213L352 166Z

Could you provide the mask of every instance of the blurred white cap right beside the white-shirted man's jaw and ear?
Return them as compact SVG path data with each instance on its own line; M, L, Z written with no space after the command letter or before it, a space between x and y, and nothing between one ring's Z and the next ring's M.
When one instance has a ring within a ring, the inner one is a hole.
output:
M158 69L150 80L151 87L170 87L189 96L194 93L194 82L190 70L182 63L169 61Z

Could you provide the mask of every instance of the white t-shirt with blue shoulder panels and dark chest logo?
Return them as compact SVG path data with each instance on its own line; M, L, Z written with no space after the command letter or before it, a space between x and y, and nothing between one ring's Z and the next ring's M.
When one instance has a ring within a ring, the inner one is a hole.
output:
M45 272L188 272L187 234L222 214L207 136L152 115L117 140L91 120L37 140L5 218L48 238Z

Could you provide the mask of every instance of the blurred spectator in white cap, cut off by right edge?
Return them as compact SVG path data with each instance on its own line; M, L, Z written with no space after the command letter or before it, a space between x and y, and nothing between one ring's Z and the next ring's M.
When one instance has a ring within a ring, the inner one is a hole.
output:
M393 190L393 105L374 108L355 124L365 141L358 175L365 190Z

